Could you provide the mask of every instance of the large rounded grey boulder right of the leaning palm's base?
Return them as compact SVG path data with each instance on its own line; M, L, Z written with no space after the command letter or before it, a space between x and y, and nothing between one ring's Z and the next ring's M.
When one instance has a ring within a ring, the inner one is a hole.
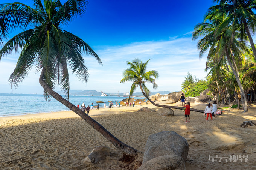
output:
M165 155L177 155L186 162L188 152L189 144L184 137L174 131L159 132L148 137L142 164Z

